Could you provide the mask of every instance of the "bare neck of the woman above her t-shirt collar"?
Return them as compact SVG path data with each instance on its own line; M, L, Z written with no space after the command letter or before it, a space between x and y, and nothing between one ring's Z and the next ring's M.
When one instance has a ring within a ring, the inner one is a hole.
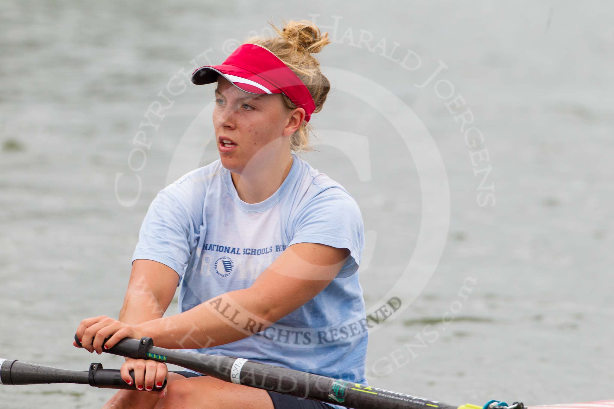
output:
M292 168L292 155L279 158L276 164L268 163L262 169L236 174L230 172L239 199L246 203L260 203L279 189Z

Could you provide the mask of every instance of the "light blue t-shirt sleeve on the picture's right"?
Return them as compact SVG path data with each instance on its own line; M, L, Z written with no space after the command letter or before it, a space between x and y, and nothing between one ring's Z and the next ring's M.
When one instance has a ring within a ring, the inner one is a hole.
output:
M311 199L293 221L289 245L319 243L347 248L350 256L336 278L349 277L360 265L365 227L354 198L340 188L328 188Z

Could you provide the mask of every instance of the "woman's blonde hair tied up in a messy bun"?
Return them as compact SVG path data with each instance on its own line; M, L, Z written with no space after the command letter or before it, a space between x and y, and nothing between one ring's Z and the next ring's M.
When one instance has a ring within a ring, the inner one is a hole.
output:
M282 20L283 21L283 20ZM298 78L305 84L316 109L313 113L320 112L328 91L330 82L322 74L320 63L311 54L319 53L325 45L330 44L328 32L320 34L320 29L309 20L284 21L284 28L279 30L273 23L269 24L279 34L279 37L262 38L250 37L244 44L256 44L267 48L274 55L278 56L286 66L288 66ZM297 106L290 99L282 94L284 105L288 110L293 110ZM300 127L290 136L290 149L298 153L312 151L309 146L309 132L313 134L313 127L308 122L303 121Z

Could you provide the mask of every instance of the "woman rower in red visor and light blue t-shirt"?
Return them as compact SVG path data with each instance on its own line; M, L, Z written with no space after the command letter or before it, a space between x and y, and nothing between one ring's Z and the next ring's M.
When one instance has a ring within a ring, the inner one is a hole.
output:
M330 90L311 54L330 40L306 20L274 29L279 37L248 39L221 65L194 72L196 85L216 83L220 159L155 197L119 321L77 327L88 351L101 353L108 337L110 348L146 336L163 348L366 383L362 216L343 186L297 156ZM177 286L179 314L163 317ZM127 383L130 370L138 391L117 392L105 408L333 407L152 360L126 359Z

